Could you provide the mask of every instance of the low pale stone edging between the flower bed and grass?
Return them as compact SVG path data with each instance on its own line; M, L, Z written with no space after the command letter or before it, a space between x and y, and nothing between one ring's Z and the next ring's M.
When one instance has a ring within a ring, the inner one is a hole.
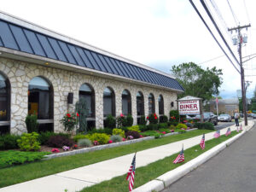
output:
M190 130L187 130L187 131L189 132L189 131L194 131L194 130L197 130L197 128L190 129ZM162 137L168 137L168 136L177 135L177 134L181 134L181 133L171 132L171 133L167 133L167 134L163 135ZM69 156L69 155L73 155L73 154L84 154L84 153L88 153L90 151L97 151L97 150L102 150L102 149L105 149L105 148L115 148L115 147L119 147L119 146L122 146L122 145L129 145L131 143L139 143L139 142L148 141L148 140L152 140L152 139L154 139L154 137L143 137L143 138L133 139L133 140L125 141L125 142L94 146L94 147L91 147L91 148L80 148L80 149L77 149L77 150L63 152L63 153L60 153L60 154L48 154L48 155L44 156L45 158L43 160L51 160L51 159L54 159L54 158L57 158L57 157L64 157L64 156Z

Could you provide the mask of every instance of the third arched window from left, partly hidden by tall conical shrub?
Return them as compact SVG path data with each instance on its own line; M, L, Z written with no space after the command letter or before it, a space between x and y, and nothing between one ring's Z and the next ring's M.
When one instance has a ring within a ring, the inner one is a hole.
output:
M79 90L79 97L84 97L87 108L88 117L95 117L95 93L89 84L82 84Z

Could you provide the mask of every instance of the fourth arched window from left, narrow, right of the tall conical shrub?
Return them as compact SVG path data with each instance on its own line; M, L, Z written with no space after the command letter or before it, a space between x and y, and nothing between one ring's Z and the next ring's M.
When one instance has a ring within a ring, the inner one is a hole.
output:
M110 87L106 87L103 92L103 114L107 117L109 114L115 116L114 92Z

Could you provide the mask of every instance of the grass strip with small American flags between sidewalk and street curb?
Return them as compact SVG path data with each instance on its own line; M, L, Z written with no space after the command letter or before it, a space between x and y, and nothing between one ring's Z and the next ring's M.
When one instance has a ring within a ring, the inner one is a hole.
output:
M184 163L188 162L189 160L194 159L195 157L199 156L200 154L206 152L210 148L218 145L219 143L224 142L225 140L229 139L230 137L234 137L238 134L236 131L232 131L229 137L225 135L206 142L206 148L201 150L201 147L196 145L195 147L189 148L184 151L185 161L180 164L173 164L172 161L175 160L177 154L173 154L172 156L166 157L163 160L155 161L154 163L149 164L148 166L139 167L136 169L135 174L135 186L134 189L143 185L144 183L148 183L149 181L153 180L160 175L169 172L177 166L182 166ZM127 170L128 172L128 170ZM109 181L105 181L96 185L93 185L88 188L84 188L81 192L119 192L119 191L129 191L128 189L128 181L125 180L126 174L119 177L114 177Z

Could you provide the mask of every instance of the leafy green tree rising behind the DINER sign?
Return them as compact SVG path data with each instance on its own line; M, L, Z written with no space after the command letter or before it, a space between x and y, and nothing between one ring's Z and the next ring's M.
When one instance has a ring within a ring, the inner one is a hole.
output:
M197 96L203 100L209 100L212 95L218 95L218 88L223 83L221 75L222 69L216 67L203 69L194 62L182 63L172 66L172 74L183 86L183 96Z

